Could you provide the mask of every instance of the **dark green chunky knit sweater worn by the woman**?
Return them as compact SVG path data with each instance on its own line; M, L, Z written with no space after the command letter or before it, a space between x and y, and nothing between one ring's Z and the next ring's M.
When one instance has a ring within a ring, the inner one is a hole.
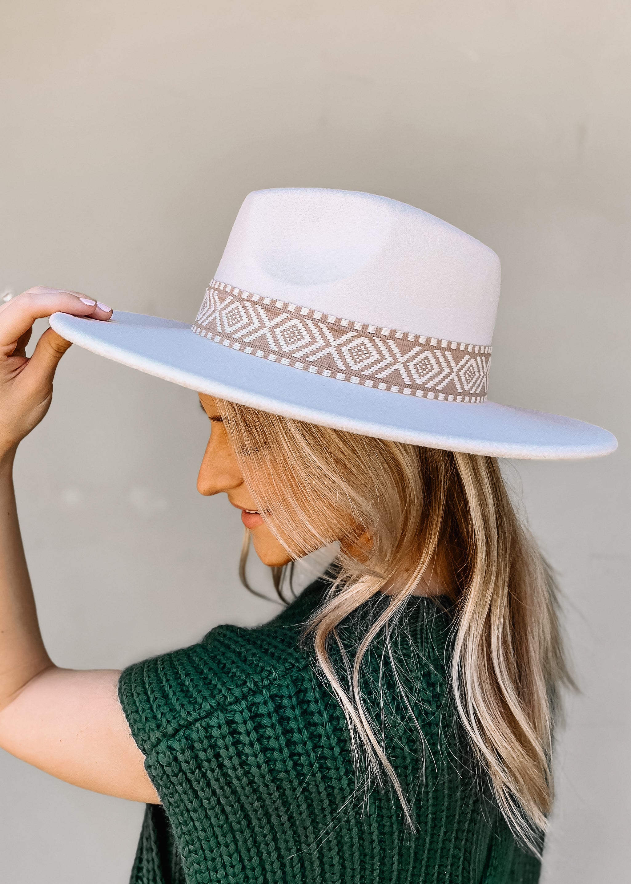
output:
M450 702L450 615L415 598L394 653L410 727L376 643L363 689L414 814L355 778L344 715L300 646L327 583L258 629L125 669L119 697L163 805L148 805L132 884L534 884L468 757ZM357 624L346 627L352 639ZM387 657L386 657L387 661ZM339 662L339 661L338 661Z

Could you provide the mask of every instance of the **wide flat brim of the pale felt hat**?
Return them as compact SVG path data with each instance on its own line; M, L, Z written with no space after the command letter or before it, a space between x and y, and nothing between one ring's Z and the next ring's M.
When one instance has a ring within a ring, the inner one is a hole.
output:
M420 399L299 371L201 338L172 319L115 311L100 322L55 313L50 325L95 354L191 390L366 436L533 460L598 457L618 445L612 433L570 417Z

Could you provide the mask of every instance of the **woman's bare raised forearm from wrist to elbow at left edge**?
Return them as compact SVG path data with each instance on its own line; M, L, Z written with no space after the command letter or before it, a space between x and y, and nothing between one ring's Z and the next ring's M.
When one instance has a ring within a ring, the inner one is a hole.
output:
M0 710L52 666L37 621L13 490L14 451L0 456Z

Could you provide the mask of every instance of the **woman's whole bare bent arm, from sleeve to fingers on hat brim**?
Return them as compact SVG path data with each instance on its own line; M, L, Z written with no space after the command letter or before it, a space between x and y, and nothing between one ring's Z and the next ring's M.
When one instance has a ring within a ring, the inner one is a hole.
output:
M30 360L25 347L34 319L57 311L110 316L94 301L51 289L31 289L0 308L0 748L84 789L155 804L118 703L118 672L60 669L50 660L19 533L15 451L48 411L70 344L49 329Z

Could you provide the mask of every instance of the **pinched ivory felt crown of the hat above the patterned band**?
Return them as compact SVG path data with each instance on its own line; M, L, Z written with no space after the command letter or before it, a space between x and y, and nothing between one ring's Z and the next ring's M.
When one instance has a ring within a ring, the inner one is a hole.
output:
M490 345L499 259L404 202L322 188L248 194L217 280L354 322Z

